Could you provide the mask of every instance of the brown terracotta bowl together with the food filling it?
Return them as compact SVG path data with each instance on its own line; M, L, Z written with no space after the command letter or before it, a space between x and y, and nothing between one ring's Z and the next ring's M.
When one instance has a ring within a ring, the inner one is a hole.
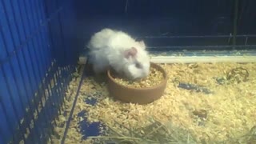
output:
M122 102L137 104L147 104L161 98L168 79L166 70L154 62L150 62L149 76L138 81L128 81L127 78L121 80L113 70L107 70L107 77L111 97ZM145 82L149 83L145 84Z

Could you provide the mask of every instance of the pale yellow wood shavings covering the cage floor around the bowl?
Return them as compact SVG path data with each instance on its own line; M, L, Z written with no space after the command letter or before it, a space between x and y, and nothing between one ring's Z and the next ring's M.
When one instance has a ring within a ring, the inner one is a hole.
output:
M102 122L120 134L129 131L117 126L115 121L134 130L149 125L148 118L172 122L188 130L198 143L238 138L256 126L256 63L162 64L162 67L169 78L165 93L145 106L115 101L108 97L105 83L85 78L66 143L91 143L82 140L83 135L79 132L78 122L84 121L78 118L82 110L86 111L86 122ZM248 70L246 82L227 80L230 70L237 67ZM205 86L213 93L182 89L178 87L179 82ZM92 106L85 102L86 98L96 98L97 102ZM200 110L201 113L204 110L206 118L200 118Z

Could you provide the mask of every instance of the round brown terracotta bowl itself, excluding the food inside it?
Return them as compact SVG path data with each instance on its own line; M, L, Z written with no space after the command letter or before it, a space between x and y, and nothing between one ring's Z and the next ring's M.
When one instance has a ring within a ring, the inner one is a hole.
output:
M159 70L163 74L162 82L158 85L145 87L145 88L134 88L131 86L124 86L115 81L113 78L112 70L107 71L108 77L108 90L110 96L114 97L122 102L147 104L154 102L158 98L161 98L164 90L166 89L167 75L166 71L161 66L151 62L150 66L156 70Z

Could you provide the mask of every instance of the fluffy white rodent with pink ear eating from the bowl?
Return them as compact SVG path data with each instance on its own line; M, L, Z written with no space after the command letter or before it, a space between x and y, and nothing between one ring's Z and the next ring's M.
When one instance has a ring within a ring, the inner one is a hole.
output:
M130 79L145 78L150 73L150 57L145 43L135 41L125 32L103 29L90 38L87 47L96 74L110 66Z

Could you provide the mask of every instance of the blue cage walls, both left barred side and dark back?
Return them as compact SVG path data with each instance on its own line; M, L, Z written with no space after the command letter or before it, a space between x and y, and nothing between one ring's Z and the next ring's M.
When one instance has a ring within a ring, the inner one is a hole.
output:
M157 52L255 50L254 4L0 0L0 143L50 140L78 52L97 30L130 31Z

